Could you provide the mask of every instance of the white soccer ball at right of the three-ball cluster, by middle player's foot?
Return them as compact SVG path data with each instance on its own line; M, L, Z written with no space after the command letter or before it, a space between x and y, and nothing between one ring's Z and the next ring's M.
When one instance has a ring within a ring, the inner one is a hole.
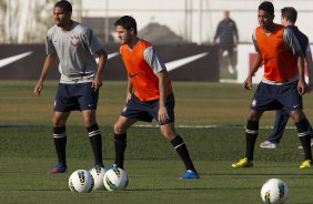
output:
M103 183L108 191L121 191L127 188L129 177L124 170L112 167L105 172Z

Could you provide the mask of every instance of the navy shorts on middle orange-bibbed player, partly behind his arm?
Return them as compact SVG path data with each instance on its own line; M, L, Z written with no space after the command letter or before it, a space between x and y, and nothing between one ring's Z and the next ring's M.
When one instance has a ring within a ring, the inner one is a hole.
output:
M127 102L127 105L122 110L121 115L129 119L138 119L139 121L144 122L151 122L153 119L155 119L160 125L173 123L175 106L174 94L170 94L168 96L165 105L169 119L165 122L160 123L158 121L159 100L141 101L134 94L132 94L131 99Z

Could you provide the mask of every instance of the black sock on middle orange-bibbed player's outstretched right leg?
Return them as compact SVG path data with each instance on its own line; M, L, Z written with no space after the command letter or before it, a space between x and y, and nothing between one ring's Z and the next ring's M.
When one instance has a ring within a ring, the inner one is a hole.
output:
M174 146L174 149L176 150L178 154L181 156L181 159L182 159L182 161L183 161L183 163L185 165L185 169L186 170L192 170L192 171L196 172L194 166L193 166L193 163L192 163L192 161L190 159L190 155L189 155L189 152L186 150L186 145L185 145L183 139L180 135L178 135L176 137L174 137L171 141L171 144Z

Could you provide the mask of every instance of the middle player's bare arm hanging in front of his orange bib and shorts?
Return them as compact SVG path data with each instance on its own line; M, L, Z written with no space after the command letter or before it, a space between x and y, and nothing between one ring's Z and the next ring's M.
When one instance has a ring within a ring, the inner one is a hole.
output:
M168 110L166 110L166 90L168 90L168 71L162 70L156 73L159 78L159 91L160 91L160 100L159 100L159 112L158 112L158 120L160 123L165 122L169 119Z

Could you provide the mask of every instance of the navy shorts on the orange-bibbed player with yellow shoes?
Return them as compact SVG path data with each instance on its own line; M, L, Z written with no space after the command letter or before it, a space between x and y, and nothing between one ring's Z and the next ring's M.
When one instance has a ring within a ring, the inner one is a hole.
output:
M297 81L282 85L261 82L254 93L250 109L254 111L284 109L287 112L302 110L302 95L297 92Z

